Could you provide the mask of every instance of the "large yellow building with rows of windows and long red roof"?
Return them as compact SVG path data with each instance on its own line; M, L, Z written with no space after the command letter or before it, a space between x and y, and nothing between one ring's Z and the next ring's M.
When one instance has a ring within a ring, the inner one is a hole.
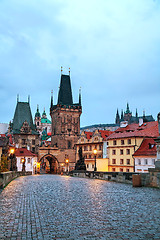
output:
M133 154L140 147L145 137L158 136L158 123L141 120L139 124L127 122L121 124L112 135L108 137L108 171L134 172L135 162Z

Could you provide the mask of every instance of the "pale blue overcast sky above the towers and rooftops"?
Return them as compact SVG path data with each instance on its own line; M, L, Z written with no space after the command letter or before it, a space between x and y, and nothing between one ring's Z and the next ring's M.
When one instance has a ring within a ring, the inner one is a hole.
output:
M81 126L114 123L117 108L160 111L159 0L0 0L0 122L13 119L17 94L49 117L60 69Z

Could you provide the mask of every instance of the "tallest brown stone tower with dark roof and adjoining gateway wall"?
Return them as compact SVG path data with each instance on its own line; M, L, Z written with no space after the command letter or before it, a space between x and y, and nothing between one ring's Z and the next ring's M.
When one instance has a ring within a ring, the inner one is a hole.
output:
M73 170L76 163L75 144L80 135L80 116L82 113L81 92L79 102L73 103L70 72L61 75L57 104L51 96L50 115L52 120L51 145L40 147L39 161L47 159L50 171ZM66 160L69 163L66 164Z

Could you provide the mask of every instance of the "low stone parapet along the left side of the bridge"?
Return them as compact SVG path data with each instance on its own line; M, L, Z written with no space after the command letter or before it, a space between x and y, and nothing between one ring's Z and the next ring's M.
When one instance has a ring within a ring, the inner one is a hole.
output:
M0 173L0 188L4 188L13 179L20 176L32 175L32 172L1 172Z

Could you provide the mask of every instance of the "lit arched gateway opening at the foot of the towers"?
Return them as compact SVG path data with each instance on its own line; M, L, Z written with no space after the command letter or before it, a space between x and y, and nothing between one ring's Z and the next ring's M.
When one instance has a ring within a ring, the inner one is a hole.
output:
M52 154L44 155L39 162L41 163L40 172L41 173L52 173L59 174L60 166L57 158Z

